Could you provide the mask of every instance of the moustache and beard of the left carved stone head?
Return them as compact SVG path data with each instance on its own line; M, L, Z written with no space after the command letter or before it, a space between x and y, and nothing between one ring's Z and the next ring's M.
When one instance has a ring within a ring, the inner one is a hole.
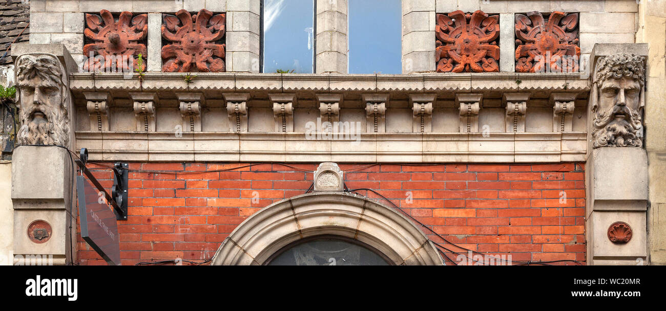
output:
M23 108L23 107L22 107ZM63 126L65 116L58 109L47 105L30 104L21 110L21 120L26 122L19 129L17 138L21 145L59 145L67 146L68 134Z

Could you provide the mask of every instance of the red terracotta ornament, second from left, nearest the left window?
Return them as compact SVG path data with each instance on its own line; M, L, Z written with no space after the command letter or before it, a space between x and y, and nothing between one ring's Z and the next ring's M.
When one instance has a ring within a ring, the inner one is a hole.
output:
M163 15L162 37L170 44L162 47L165 72L224 72L226 15L213 15L202 9L192 16L180 10Z

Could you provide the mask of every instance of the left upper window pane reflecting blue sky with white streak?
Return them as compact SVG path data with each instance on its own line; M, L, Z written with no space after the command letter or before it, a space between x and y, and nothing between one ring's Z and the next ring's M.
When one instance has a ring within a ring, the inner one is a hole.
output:
M314 72L313 0L264 0L263 23L264 72Z

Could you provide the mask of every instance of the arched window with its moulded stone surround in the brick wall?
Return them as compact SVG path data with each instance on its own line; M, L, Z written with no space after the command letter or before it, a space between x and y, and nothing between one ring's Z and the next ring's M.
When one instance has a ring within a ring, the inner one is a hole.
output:
M227 237L213 265L441 265L400 212L350 193L316 191L264 207Z

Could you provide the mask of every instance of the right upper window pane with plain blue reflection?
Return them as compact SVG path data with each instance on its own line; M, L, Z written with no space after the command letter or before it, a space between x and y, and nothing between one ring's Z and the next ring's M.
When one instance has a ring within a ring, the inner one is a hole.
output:
M349 73L402 73L400 0L349 0Z

